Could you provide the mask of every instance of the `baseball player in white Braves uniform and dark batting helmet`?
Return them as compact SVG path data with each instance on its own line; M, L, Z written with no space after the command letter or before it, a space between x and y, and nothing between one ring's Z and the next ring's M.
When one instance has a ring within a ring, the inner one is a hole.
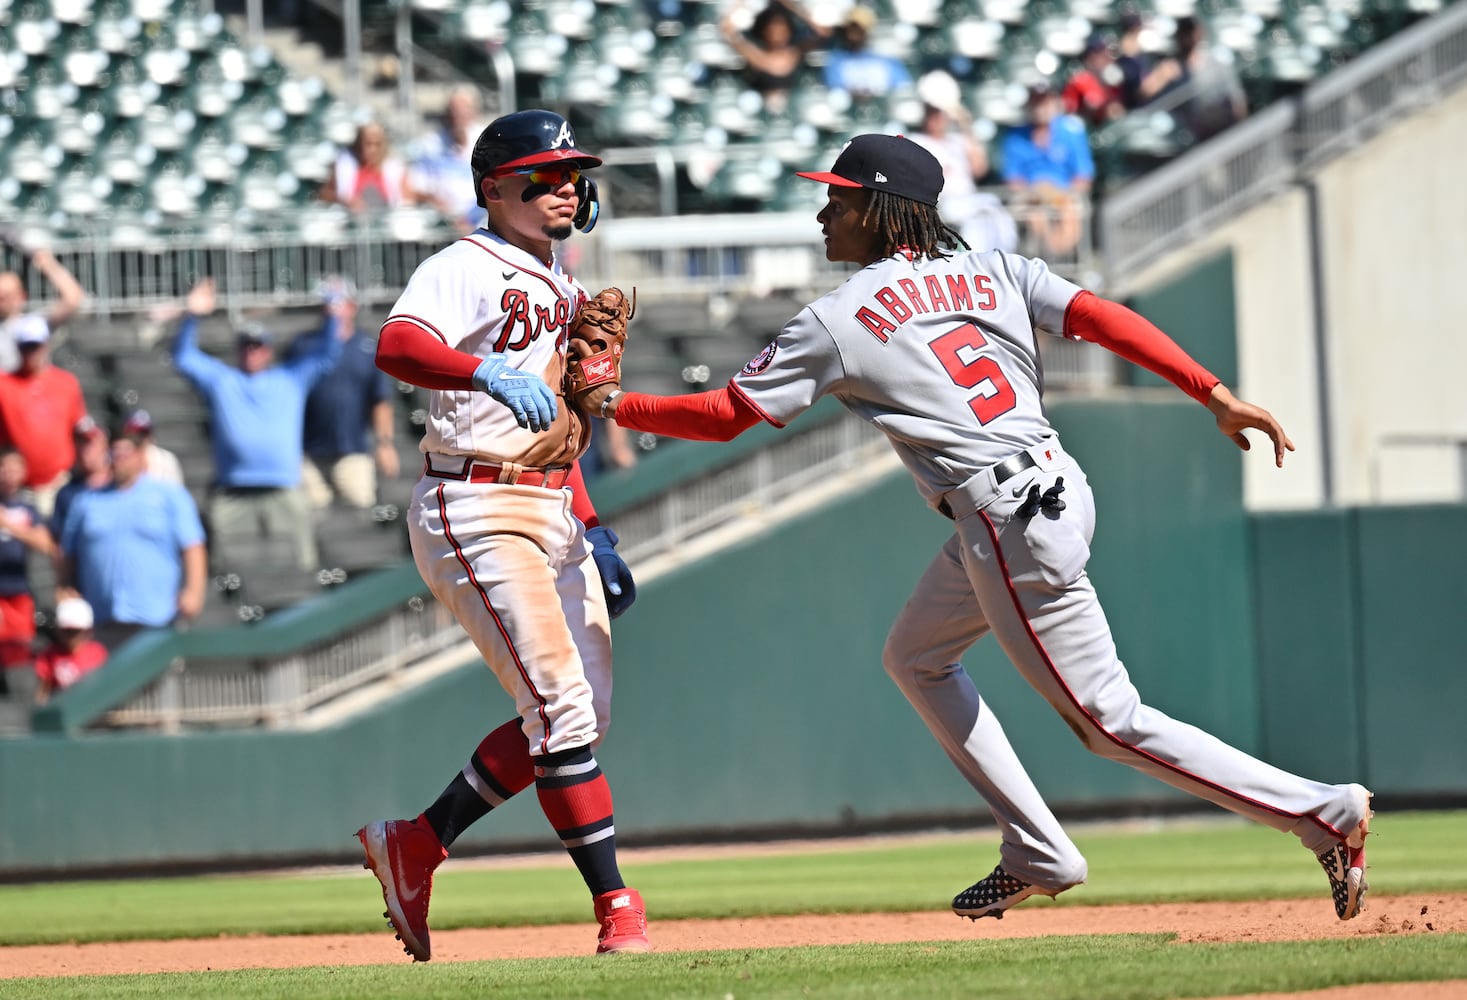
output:
M585 289L553 242L596 223L582 172L600 163L559 114L491 122L472 155L487 224L418 267L378 339L383 371L433 390L408 512L418 572L518 711L422 814L356 834L386 916L421 962L433 871L468 824L531 783L591 891L597 953L650 949L594 757L610 711L610 619L635 585L577 465L588 421L562 399L566 326Z

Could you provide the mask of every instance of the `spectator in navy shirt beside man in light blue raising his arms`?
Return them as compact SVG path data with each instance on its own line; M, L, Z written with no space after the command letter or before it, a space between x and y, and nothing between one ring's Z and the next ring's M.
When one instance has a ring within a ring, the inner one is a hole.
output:
M377 368L377 340L356 326L352 282L333 276L321 282L317 293L324 323L296 337L286 356L293 361L320 355L323 339L340 340L342 348L336 367L305 397L301 482L312 507L332 500L370 507L377 503L377 477L398 478L392 381Z

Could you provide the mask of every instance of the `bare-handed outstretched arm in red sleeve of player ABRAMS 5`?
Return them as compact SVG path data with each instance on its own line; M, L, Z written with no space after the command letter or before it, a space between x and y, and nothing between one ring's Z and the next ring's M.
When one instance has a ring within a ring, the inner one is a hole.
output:
M1243 431L1248 428L1269 435L1273 463L1279 468L1284 466L1284 452L1294 450L1294 441L1272 413L1234 396L1221 378L1193 361L1175 340L1119 302L1081 292L1065 312L1065 334L1097 343L1172 383L1206 406L1218 419L1218 430L1244 452L1250 446Z

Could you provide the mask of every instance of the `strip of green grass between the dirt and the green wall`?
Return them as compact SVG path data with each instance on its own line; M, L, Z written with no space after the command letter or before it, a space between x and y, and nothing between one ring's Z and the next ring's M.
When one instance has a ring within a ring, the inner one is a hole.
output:
M1372 826L1378 894L1467 890L1464 812L1383 814ZM1090 881L1061 906L1317 896L1325 877L1292 837L1256 824L1081 828ZM940 909L998 858L992 836L704 861L628 862L654 919ZM433 927L584 922L569 861L472 868L449 861ZM60 941L381 931L381 896L361 870L326 875L202 877L0 886L0 946ZM3 960L3 956L0 956ZM3 990L0 990L3 993Z

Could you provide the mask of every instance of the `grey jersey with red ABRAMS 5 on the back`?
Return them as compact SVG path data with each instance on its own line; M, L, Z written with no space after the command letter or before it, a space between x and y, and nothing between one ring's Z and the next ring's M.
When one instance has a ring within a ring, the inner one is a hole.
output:
M731 386L778 427L835 396L934 501L1053 433L1036 331L1064 336L1081 290L1017 254L896 254L801 309Z

